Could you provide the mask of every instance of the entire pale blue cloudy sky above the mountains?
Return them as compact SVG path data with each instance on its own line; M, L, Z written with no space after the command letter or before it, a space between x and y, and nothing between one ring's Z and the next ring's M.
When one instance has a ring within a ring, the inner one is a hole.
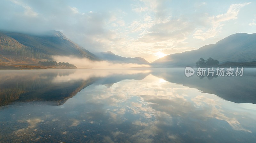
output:
M148 62L256 33L252 0L1 0L0 30L58 30L92 53Z

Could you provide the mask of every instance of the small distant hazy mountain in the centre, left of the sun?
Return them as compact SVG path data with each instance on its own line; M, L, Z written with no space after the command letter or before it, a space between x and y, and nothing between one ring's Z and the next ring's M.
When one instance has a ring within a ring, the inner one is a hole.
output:
M113 63L132 63L132 64L150 64L147 60L141 57L123 57L112 53L111 51L100 52L96 54L100 59Z

